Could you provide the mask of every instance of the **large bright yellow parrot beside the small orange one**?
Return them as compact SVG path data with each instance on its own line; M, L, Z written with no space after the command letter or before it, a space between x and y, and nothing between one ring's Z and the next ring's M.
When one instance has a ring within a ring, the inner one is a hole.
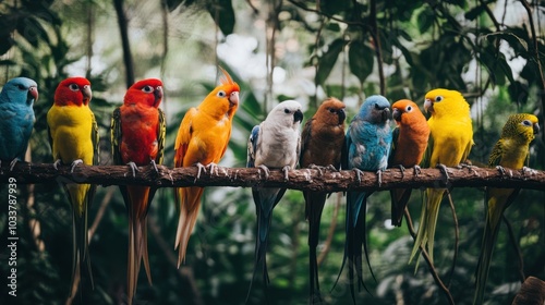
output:
M427 120L431 133L421 167L439 167L447 174L445 167L457 167L467 161L473 146L470 106L459 91L438 88L426 94L424 109L432 117ZM419 232L410 261L421 245L434 261L435 228L445 191L446 188L426 190L426 200L422 205Z

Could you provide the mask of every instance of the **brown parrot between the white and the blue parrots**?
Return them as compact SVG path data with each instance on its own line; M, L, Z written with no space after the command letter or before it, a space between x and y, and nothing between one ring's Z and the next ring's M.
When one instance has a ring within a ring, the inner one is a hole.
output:
M344 103L336 98L326 99L314 117L306 121L301 135L301 168L340 168L342 144L344 143ZM320 170L318 168L318 170ZM323 302L319 293L316 246L319 237L319 221L326 204L327 193L303 192L305 217L308 220L308 265L311 274L311 303Z

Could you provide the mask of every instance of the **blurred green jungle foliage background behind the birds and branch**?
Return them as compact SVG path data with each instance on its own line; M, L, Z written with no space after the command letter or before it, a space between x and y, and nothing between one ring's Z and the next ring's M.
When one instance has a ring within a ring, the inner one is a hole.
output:
M305 120L328 96L347 103L349 120L363 99L383 94L421 108L436 87L461 91L472 108L471 160L486 163L509 114L534 113L544 125L545 3L528 0L7 0L0 1L0 84L16 76L38 83L36 124L27 160L51 163L46 113L60 81L86 76L99 123L101 164L111 163L109 124L129 85L146 77L165 84L166 166L186 109L217 84L221 65L241 85L241 103L225 167L244 167L246 141L278 101L303 105ZM1 85L0 85L1 86ZM545 169L542 132L530 167ZM2 187L0 198L5 202ZM71 208L55 181L17 185L17 297L0 286L0 304L64 304L71 272ZM95 290L88 304L126 302L128 218L116 186L97 188L89 215ZM455 220L444 200L435 265L457 304L473 300L484 225L484 192L452 191L459 253L452 269ZM419 219L421 194L409 204ZM344 204L328 199L322 218L320 286L329 304L350 304L346 271L334 288L344 246ZM368 202L370 258L376 281L359 304L447 304L413 246L403 221L389 224L388 192ZM521 192L506 211L486 289L488 304L510 304L521 279L545 279L545 194ZM0 270L7 279L7 207L0 212ZM249 188L208 187L185 264L175 267L178 215L170 188L158 191L148 217L153 285L141 270L134 304L243 304L252 277L255 207ZM417 222L414 223L417 225ZM308 302L307 223L301 192L289 191L275 209L268 266L270 304ZM509 228L509 230L508 230ZM142 268L143 269L143 268ZM261 277L250 304L264 304ZM76 300L78 303L80 300Z

